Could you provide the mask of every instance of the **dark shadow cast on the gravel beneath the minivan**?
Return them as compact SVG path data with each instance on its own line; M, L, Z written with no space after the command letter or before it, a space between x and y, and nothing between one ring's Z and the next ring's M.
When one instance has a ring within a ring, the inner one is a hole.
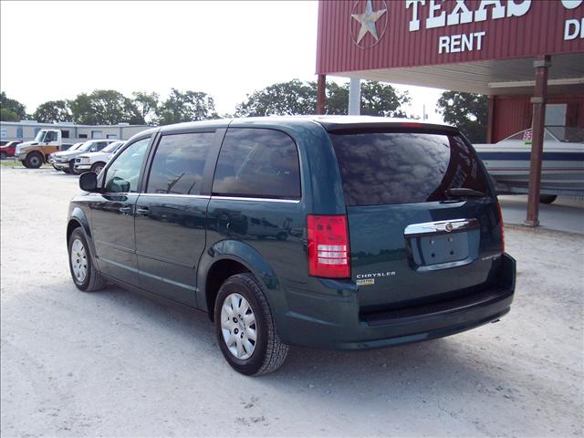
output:
M118 287L91 294L91 297L116 308L126 308L136 318L155 326L156 332L164 338L176 339L177 349L188 346L195 353L213 355L213 360L221 362L219 366L224 365L225 372L235 372L224 363L215 340L214 325L203 312L169 307ZM474 336L479 335L475 333ZM485 339L477 341L477 344L488 345ZM399 394L407 398L417 397L422 392L432 396L433 391L436 395L444 391L493 393L506 379L506 370L494 365L488 349L480 345L468 349L467 344L454 337L350 352L293 346L280 370L256 379L257 383L274 388L292 385L320 392L323 396L334 392L348 398L357 395L356 387L360 394L386 400Z

